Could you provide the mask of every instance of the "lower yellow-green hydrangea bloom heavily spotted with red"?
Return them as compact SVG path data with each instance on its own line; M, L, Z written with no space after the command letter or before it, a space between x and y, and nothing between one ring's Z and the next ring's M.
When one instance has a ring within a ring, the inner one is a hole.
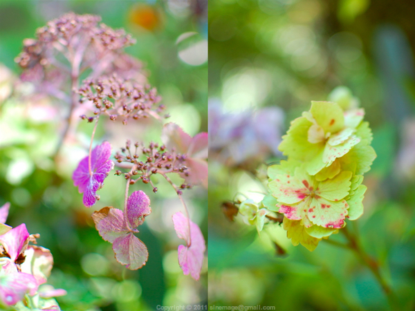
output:
M288 160L269 167L268 176L268 187L277 199L273 210L284 214L284 229L294 245L302 243L313 250L321 238L344 227L346 218L354 220L363 213L363 176L352 177L351 171L317 180L304 164Z

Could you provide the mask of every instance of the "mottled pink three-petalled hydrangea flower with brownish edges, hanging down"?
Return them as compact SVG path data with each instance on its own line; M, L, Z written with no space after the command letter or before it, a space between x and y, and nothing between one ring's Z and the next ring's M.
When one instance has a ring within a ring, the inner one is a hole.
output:
M116 259L129 270L137 270L145 265L149 252L134 233L136 227L144 223L151 213L149 197L142 191L134 191L127 200L123 212L113 207L104 207L92 214L95 227L105 241L113 243Z

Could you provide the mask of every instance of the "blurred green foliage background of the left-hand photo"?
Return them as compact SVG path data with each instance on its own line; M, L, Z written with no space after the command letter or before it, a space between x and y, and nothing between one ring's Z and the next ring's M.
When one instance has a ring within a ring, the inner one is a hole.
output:
M158 88L167 113L172 115L169 121L178 122L191 135L207 131L207 53L200 44L207 42L205 1L1 1L0 59L12 73L1 68L0 100L10 95L12 82L19 75L14 59L23 39L33 38L36 28L68 11L100 15L108 26L131 33L137 44L127 53L144 62L149 83ZM190 55L199 62L195 65L188 53L181 52L192 51L197 44L199 50ZM61 121L34 117L30 109L36 104L47 107L53 102L19 102L15 97L0 102L0 205L11 202L8 223L13 227L26 223L30 233L40 234L39 245L51 250L55 265L48 283L68 291L57 299L62 310L134 311L155 310L156 305L204 304L207 257L199 282L183 276L178 266L181 241L174 233L171 216L181 205L174 190L169 190L167 182L160 182L159 194L149 194L154 219L146 218L147 224L138 234L149 249L149 260L138 271L127 270L116 262L111 245L102 240L91 220L95 209L118 207L124 202L124 180L110 173L100 190L100 202L86 209L71 180L85 151L68 147L68 158L55 164L52 155ZM80 124L81 141L89 139L91 129L89 124ZM116 126L100 124L97 140L108 138L106 132L113 131L116 147L127 138L160 142L160 130L131 137ZM151 192L145 185L139 187ZM196 187L185 200L193 221L207 236L206 191Z

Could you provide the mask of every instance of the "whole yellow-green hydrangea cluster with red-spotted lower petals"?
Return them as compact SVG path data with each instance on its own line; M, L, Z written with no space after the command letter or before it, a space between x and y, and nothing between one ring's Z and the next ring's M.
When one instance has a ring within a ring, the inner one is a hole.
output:
M273 198L264 205L284 214L293 245L315 249L363 214L367 187L363 174L376 158L365 111L336 102L311 102L310 111L291 122L279 150L288 156L268 167Z

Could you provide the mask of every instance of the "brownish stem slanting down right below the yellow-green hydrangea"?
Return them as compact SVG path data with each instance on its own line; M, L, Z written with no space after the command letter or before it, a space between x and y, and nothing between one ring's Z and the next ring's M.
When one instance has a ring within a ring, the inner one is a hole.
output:
M353 250L353 252L356 254L356 256L358 256L360 261L362 261L362 263L366 265L369 268L369 270L374 274L376 281L378 281L380 287L387 296L391 310L399 310L396 301L396 296L394 295L394 292L391 290L389 283L386 281L384 276L382 276L382 273L380 272L379 263L365 252L356 234L352 234L351 232L349 232L347 227L344 227L340 231L344 234L344 236L347 238L347 241L349 242L347 244L347 247Z

